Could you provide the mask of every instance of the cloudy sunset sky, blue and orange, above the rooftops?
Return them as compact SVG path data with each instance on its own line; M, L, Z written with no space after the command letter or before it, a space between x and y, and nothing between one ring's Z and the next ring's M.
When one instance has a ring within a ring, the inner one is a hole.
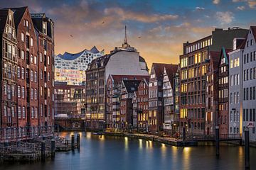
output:
M256 0L0 0L0 8L28 6L55 23L55 54L96 45L110 53L124 42L152 62L178 63L183 42L215 28L256 26Z

